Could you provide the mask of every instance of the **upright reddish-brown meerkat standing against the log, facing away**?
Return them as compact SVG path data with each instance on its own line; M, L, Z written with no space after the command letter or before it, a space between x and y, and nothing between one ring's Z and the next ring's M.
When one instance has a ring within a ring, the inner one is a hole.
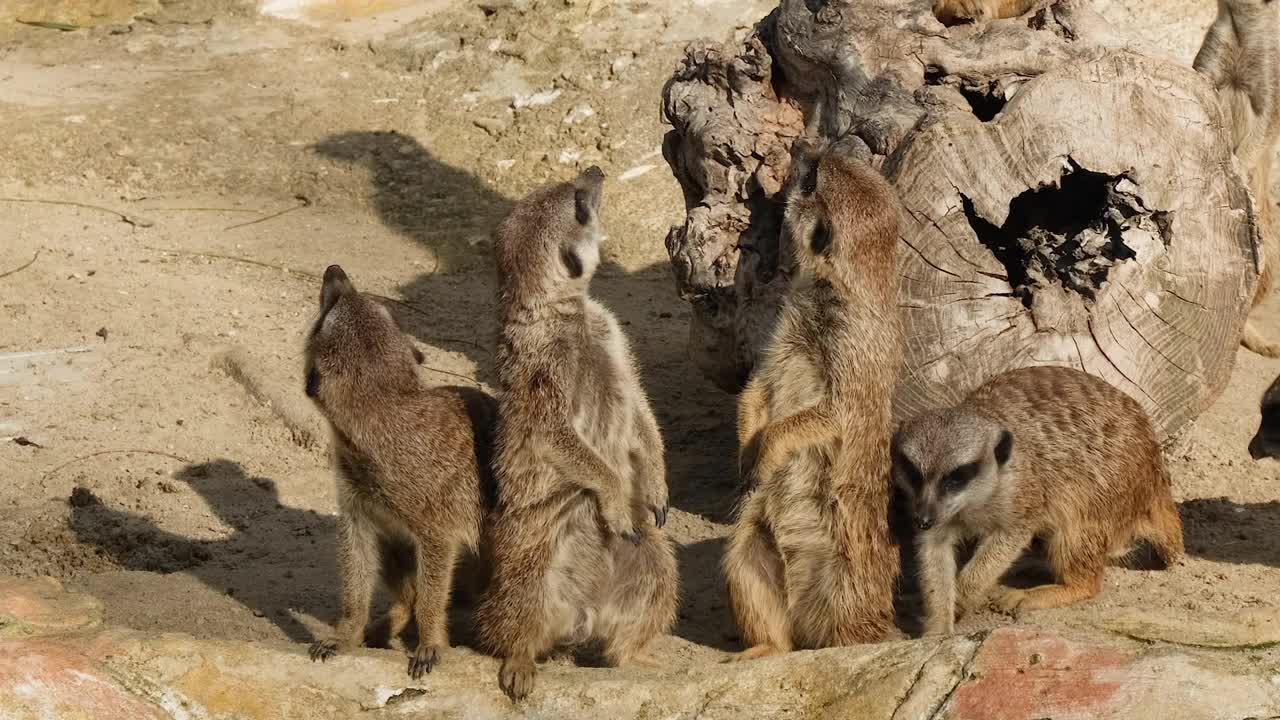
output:
M748 489L723 570L748 647L730 661L872 642L893 623L897 199L842 143L794 156L790 284L739 398Z

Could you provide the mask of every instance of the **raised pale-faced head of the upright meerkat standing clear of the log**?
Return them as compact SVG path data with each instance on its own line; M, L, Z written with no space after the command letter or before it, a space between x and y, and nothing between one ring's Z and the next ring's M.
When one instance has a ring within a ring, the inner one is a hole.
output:
M593 165L570 182L543 186L494 231L504 306L534 307L581 297L600 264L604 172Z

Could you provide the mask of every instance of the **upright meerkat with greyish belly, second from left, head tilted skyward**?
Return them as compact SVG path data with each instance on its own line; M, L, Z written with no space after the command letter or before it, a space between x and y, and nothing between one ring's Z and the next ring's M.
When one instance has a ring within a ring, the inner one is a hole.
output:
M662 434L617 319L588 295L603 183L591 167L547 184L494 231L500 489L476 628L513 700L554 646L652 664L676 618Z

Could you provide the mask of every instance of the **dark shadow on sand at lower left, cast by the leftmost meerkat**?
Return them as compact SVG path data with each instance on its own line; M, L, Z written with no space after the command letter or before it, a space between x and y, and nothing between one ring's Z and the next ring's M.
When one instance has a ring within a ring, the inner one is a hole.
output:
M233 528L229 537L183 537L159 528L145 515L108 507L86 495L88 491L73 496L72 530L79 542L97 547L123 569L191 575L269 619L294 642L316 639L294 614L315 616L330 626L337 621L340 580L334 561L333 515L282 503L274 480L248 475L232 460L188 465L175 478ZM385 598L374 603L374 621L365 637L371 647L388 647L390 642L380 618L385 607ZM411 624L404 637L407 647L416 643L415 633ZM449 633L451 644L471 644L463 609L451 607Z

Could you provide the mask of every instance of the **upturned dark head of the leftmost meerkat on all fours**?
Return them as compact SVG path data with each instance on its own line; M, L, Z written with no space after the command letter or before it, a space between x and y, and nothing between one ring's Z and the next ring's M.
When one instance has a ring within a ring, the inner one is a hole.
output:
M422 352L387 307L360 295L347 273L329 265L320 314L306 342L306 392L323 409L355 397L417 386Z

